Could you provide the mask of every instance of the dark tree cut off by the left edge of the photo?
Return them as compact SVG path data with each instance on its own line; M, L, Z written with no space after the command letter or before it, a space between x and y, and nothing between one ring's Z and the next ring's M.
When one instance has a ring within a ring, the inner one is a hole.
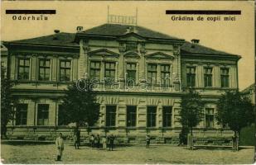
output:
M7 124L13 119L12 109L12 82L5 76L6 68L1 67L1 138L7 134Z

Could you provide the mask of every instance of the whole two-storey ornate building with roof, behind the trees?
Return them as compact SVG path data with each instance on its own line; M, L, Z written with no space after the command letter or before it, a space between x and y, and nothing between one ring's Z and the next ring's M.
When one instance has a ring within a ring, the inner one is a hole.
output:
M228 54L141 26L104 24L70 34L55 31L27 40L6 42L8 77L18 98L8 134L22 138L69 136L62 125L64 89L80 78L94 81L99 121L88 134L116 134L139 143L175 144L181 124L181 96L194 88L205 101L198 136L229 136L215 120L216 102L226 90L237 90L239 55ZM124 140L123 139L123 140ZM121 140L121 139L120 139ZM122 140L121 140L122 141Z

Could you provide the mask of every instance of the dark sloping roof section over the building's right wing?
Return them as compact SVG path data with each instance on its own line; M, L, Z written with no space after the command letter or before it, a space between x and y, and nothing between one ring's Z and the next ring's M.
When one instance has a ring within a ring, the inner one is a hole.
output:
M186 41L184 45L181 46L182 53L188 54L218 54L218 55L235 55L229 54L224 51L214 50L203 45L193 44L191 42ZM237 56L237 55L236 55Z

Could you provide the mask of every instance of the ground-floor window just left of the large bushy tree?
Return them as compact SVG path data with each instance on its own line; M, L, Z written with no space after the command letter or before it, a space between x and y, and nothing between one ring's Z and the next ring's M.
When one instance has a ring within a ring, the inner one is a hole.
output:
M49 104L38 104L37 106L37 125L48 125Z

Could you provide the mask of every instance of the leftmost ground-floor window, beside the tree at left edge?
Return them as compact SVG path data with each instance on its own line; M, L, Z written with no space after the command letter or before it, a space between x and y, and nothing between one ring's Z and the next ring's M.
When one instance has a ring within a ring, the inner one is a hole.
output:
M16 125L27 125L27 104L17 105Z

